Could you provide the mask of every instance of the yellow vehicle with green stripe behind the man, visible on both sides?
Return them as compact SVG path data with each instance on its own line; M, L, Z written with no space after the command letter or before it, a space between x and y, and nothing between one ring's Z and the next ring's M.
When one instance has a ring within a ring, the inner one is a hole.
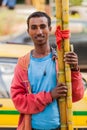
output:
M16 128L19 112L10 99L10 84L18 57L29 52L33 46L0 44L0 130ZM74 128L87 128L87 74L83 74L85 94L73 103ZM83 130L83 129L82 129Z

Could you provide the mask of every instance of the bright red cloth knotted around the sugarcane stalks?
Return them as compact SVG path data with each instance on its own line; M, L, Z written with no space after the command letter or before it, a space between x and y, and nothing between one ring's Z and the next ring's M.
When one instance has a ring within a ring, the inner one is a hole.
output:
M56 35L56 43L57 43L58 49L60 50L62 39L68 39L70 36L70 31L69 30L61 30L60 26L57 26L55 35Z

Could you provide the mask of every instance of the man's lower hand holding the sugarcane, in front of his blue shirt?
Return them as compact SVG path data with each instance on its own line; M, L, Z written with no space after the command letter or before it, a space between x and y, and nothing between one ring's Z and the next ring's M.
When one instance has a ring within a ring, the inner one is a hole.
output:
M51 96L53 99L60 98L67 95L67 87L64 83L57 85L52 91Z

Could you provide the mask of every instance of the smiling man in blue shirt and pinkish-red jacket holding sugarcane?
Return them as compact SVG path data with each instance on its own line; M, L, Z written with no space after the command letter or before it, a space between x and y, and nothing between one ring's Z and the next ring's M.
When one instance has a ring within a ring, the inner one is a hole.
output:
M51 20L44 12L34 12L28 17L27 25L35 48L18 60L11 85L12 100L16 109L22 113L18 128L23 115L28 114L31 115L28 123L33 130L58 130L60 115L56 99L66 96L67 86L58 84L56 78L56 58L49 45ZM74 52L69 52L65 54L64 61L74 66L72 100L78 101L84 93L78 57Z

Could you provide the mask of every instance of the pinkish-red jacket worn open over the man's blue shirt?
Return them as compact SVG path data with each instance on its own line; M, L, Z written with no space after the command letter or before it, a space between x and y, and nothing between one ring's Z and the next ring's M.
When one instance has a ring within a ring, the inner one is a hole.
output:
M21 113L19 125L24 114L31 115L44 110L47 104L52 102L50 92L31 93L28 81L28 65L30 54L19 58L15 68L14 78L11 84L11 97L16 109ZM72 101L78 101L83 97L84 86L79 71L72 71Z

